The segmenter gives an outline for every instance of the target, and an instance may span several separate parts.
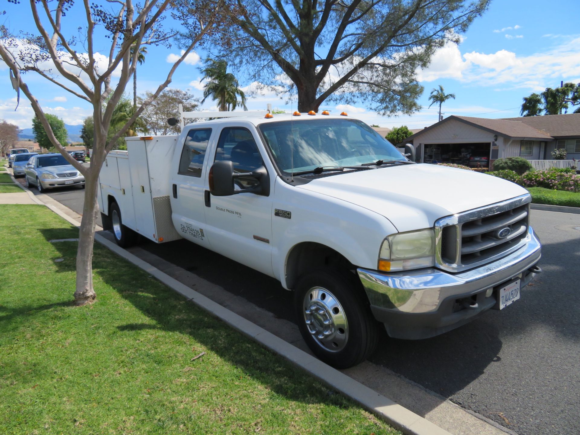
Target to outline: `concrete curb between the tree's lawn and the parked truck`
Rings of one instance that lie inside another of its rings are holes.
[[[53,212],[59,215],[61,218],[70,222],[74,226],[80,226],[80,223],[67,216],[65,213],[60,211],[54,206],[44,204],[39,198],[20,185],[23,190],[28,191],[34,202],[37,204],[45,205],[50,208]],[[175,280],[157,269],[157,267],[144,262],[142,259],[137,258],[137,256],[132,253],[125,251],[125,249],[119,247],[117,244],[107,240],[100,234],[95,234],[95,241],[102,244],[104,247],[110,249],[117,255],[128,260],[129,262],[135,264],[135,266],[140,267],[148,274],[154,276],[160,280],[163,284],[167,285],[169,288],[173,289],[177,293],[183,295],[187,300],[191,300],[197,306],[208,311],[213,316],[218,317],[223,320],[228,325],[237,329],[244,335],[252,338],[256,342],[260,343],[262,346],[270,349],[274,353],[286,358],[293,364],[298,365],[310,375],[314,376],[321,382],[332,387],[333,389],[339,391],[344,396],[351,398],[356,403],[360,404],[362,407],[372,412],[380,419],[389,423],[391,426],[400,430],[407,435],[451,435],[441,427],[434,425],[434,423],[429,422],[420,415],[409,411],[407,408],[398,405],[389,398],[382,396],[376,391],[370,389],[369,387],[362,385],[360,382],[350,378],[349,376],[342,374],[338,370],[330,367],[324,362],[318,360],[317,358],[311,356],[310,354],[302,351],[291,343],[278,338],[273,333],[266,331],[251,321],[235,314],[233,311],[226,309],[225,307],[219,305],[213,300],[206,298],[206,296],[190,289],[181,282]]]

